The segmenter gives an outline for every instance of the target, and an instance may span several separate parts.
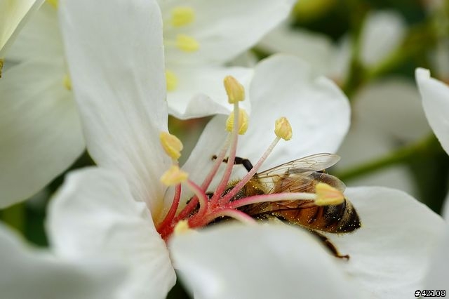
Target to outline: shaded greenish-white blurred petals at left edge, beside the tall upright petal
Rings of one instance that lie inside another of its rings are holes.
[[[21,63],[0,80],[1,208],[39,192],[85,148],[53,2],[23,28],[7,56]]]

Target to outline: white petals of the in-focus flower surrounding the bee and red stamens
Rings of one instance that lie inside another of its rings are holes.
[[[51,204],[48,230],[62,258],[126,263],[130,277],[119,297],[163,298],[175,273],[161,237],[170,239],[170,230],[161,231],[161,222],[175,201],[173,192],[166,192],[159,182],[171,164],[159,145],[159,133],[167,131],[160,16],[147,0],[118,6],[98,3],[93,9],[83,1],[63,2],[62,28],[88,150],[100,168],[69,175]],[[122,11],[136,22],[114,26],[123,22]],[[152,23],[142,21],[142,15]],[[142,41],[141,32],[152,38]],[[236,148],[239,156],[262,156],[272,139],[274,119],[288,117],[295,128],[292,141],[277,145],[264,168],[307,154],[334,152],[349,126],[349,105],[342,92],[328,79],[314,79],[295,58],[281,55],[261,62],[249,94],[253,112]],[[210,121],[183,166],[191,182],[200,184],[215,165],[210,157],[220,152],[226,139],[224,123],[221,116]],[[189,192],[182,192],[185,203]],[[363,293],[357,298],[410,298],[422,286],[427,255],[443,221],[395,190],[354,188],[347,190],[347,197],[360,213],[363,227],[330,238],[342,253],[351,255],[349,262],[326,255],[299,229],[261,225],[186,232],[172,238],[170,255],[194,293],[205,297],[235,297],[239,291],[248,298],[278,289],[276,294],[288,297],[295,292],[292,286],[299,286],[307,298],[313,298],[312,292],[321,298],[347,298],[353,291],[349,279],[354,292]],[[238,212],[232,215],[248,220]],[[417,215],[422,222],[416,221]],[[206,222],[201,217],[196,220]],[[235,255],[229,248],[235,248]],[[325,273],[316,270],[317,261],[326,267]],[[316,279],[322,284],[317,285]]]

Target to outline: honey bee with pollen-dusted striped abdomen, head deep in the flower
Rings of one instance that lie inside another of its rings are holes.
[[[336,154],[314,154],[257,173],[233,200],[281,192],[313,193],[318,182],[325,182],[343,192],[344,183],[323,172],[339,160],[340,157]],[[248,171],[252,168],[247,159],[238,158],[236,164],[243,164]],[[230,183],[225,192],[232,190],[237,182]],[[361,227],[356,209],[348,199],[344,199],[342,204],[330,206],[316,206],[313,200],[262,202],[242,206],[239,210],[257,220],[278,218],[283,222],[304,227],[319,237],[338,258],[349,258],[349,255],[340,255],[330,240],[319,232],[347,233]]]

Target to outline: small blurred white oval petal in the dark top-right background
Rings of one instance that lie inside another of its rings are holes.
[[[406,34],[406,24],[394,11],[376,11],[366,18],[361,33],[361,60],[375,65],[401,44]]]

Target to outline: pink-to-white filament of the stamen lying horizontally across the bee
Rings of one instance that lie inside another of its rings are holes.
[[[314,193],[307,192],[291,192],[291,193],[274,193],[274,194],[263,194],[254,195],[252,197],[244,197],[242,199],[237,199],[231,201],[227,208],[240,208],[241,206],[247,206],[248,204],[258,204],[261,202],[268,201],[285,201],[285,200],[315,200],[317,198]]]

